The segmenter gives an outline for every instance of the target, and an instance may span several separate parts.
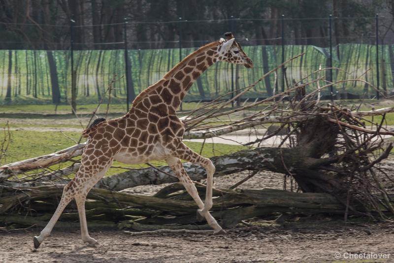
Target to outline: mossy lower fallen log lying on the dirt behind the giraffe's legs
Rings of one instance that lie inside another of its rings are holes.
[[[199,186],[198,188],[203,190]],[[45,225],[44,222],[49,220],[56,209],[56,203],[47,204],[46,211],[31,210],[30,213],[35,215],[33,217],[25,217],[25,212],[23,212],[23,215],[18,215],[16,211],[26,210],[26,207],[32,207],[33,202],[43,199],[53,198],[55,200],[62,195],[62,190],[62,186],[40,186],[19,190],[16,191],[17,193],[3,193],[0,197],[0,204],[2,205],[0,221],[3,223],[43,226]],[[200,191],[200,194],[203,195],[203,191]],[[218,195],[214,199],[212,215],[220,219],[221,224],[226,228],[231,228],[245,219],[266,216],[276,212],[342,214],[344,211],[344,206],[335,197],[324,193],[294,193],[273,189],[242,191],[223,189],[220,196]],[[154,230],[177,224],[195,225],[193,227],[195,230],[206,229],[205,223],[199,223],[196,219],[197,205],[194,201],[173,199],[171,195],[158,198],[93,188],[88,195],[88,199],[101,201],[101,203],[96,203],[95,209],[87,211],[88,222],[92,227],[114,227],[114,224],[118,224],[120,228]],[[9,205],[10,203],[12,205]],[[118,215],[108,221],[108,217],[102,218],[99,216],[115,210],[101,207],[100,204],[102,203],[123,208],[117,209]],[[146,208],[150,210],[143,210]],[[142,209],[140,216],[136,216],[138,209]],[[76,219],[77,213],[65,213],[60,218],[60,222],[65,224],[60,223],[60,226],[66,228],[78,227],[74,223]],[[91,224],[90,220],[95,222]],[[74,224],[68,224],[69,221]],[[196,225],[199,226],[196,227]],[[184,226],[173,227],[173,229],[180,228],[184,228]]]

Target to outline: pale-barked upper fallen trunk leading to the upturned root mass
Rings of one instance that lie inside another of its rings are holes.
[[[313,167],[318,164],[324,164],[324,160],[303,159],[303,153],[297,148],[276,148],[261,147],[253,150],[243,150],[229,155],[212,157],[213,164],[216,167],[215,177],[232,174],[244,170],[270,170],[273,172],[287,173],[286,167],[296,167],[303,161],[307,161],[305,168]],[[184,163],[185,170],[192,180],[206,178],[204,167]],[[126,171],[120,174],[103,177],[97,184],[96,188],[120,191],[140,185],[159,185],[164,183],[177,182],[175,176],[168,166],[158,168],[141,168]],[[67,179],[56,181],[57,184],[68,183]],[[3,182],[3,185],[10,187],[33,187],[39,185],[53,184],[51,182],[37,181],[29,183]]]

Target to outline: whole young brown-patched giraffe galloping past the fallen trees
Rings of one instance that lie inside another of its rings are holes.
[[[48,224],[38,236],[34,236],[35,248],[50,234],[72,199],[75,199],[78,208],[82,240],[90,245],[97,243],[88,233],[85,200],[88,192],[104,176],[114,160],[125,164],[164,160],[197,203],[197,217],[205,218],[214,233],[226,232],[209,213],[212,207],[215,166],[209,159],[193,152],[182,142],[184,126],[176,116],[176,110],[190,86],[215,62],[227,61],[243,64],[247,68],[253,66],[232,33],[225,33],[225,36],[226,40],[220,38],[219,41],[197,49],[167,72],[161,80],[141,92],[133,100],[126,115],[107,121],[97,119],[82,132],[88,139],[82,153],[81,166],[75,177],[64,187],[60,203]],[[205,168],[205,202],[198,196],[181,159]]]

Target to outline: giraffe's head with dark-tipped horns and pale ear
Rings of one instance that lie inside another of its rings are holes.
[[[235,41],[231,32],[225,33],[226,39],[220,38],[219,60],[234,64],[242,64],[250,68],[253,67],[252,60],[243,52],[242,47]]]

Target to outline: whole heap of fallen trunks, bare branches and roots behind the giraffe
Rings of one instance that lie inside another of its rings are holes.
[[[279,124],[272,133],[244,144],[247,150],[214,157],[212,161],[216,166],[215,176],[242,170],[282,173],[287,180],[295,181],[292,191],[216,189],[213,216],[227,228],[244,219],[275,212],[335,213],[344,214],[345,219],[353,214],[390,220],[394,215],[394,174],[379,164],[393,149],[394,131],[385,125],[385,118],[386,114],[394,114],[394,107],[361,111],[361,104],[346,108],[320,101],[320,92],[331,85],[345,81],[369,83],[357,78],[329,83],[319,76],[327,69],[319,69],[294,82],[283,93],[236,108],[228,107],[289,61],[254,84],[235,91],[232,99],[215,99],[182,118],[186,128],[184,138],[207,139]],[[307,93],[312,83],[317,83],[319,88]],[[320,83],[325,85],[320,87]],[[378,122],[369,116],[377,116]],[[278,134],[283,134],[279,145],[261,147],[261,143]],[[56,208],[61,186],[79,164],[75,162],[56,171],[43,167],[69,161],[81,155],[83,148],[82,143],[54,154],[1,166],[1,221],[44,226]],[[205,176],[203,168],[195,164],[186,163],[185,168],[193,180]],[[178,183],[163,188],[153,197],[118,192],[138,185],[176,181],[167,166],[131,169],[104,177],[88,196],[88,221],[96,227],[117,225],[134,230],[205,229],[206,225],[195,218],[197,206]],[[203,185],[196,185],[203,198]],[[77,213],[72,211],[75,207],[70,209],[58,226],[77,224]]]

